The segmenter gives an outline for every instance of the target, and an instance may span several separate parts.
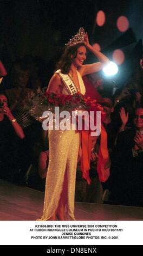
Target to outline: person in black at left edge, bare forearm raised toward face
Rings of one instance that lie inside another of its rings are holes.
[[[24,132],[8,107],[8,97],[0,93],[0,178],[11,179],[17,168],[18,144]],[[13,175],[13,173],[12,173]]]

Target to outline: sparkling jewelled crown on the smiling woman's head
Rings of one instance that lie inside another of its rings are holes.
[[[70,46],[74,46],[79,44],[80,42],[83,42],[86,38],[86,33],[85,33],[85,29],[84,28],[80,28],[79,32],[74,35],[72,37],[72,39],[70,39],[68,41],[68,43],[66,44],[66,48],[70,47]]]

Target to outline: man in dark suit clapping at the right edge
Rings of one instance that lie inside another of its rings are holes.
[[[112,158],[113,204],[143,206],[143,107],[135,109],[131,129],[125,130],[128,114],[120,111],[122,127]]]

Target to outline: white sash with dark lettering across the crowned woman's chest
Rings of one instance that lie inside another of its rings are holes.
[[[72,79],[70,78],[70,76],[68,74],[62,74],[60,69],[57,70],[55,73],[60,75],[60,77],[62,78],[62,81],[63,81],[64,85],[66,86],[69,94],[73,95],[73,94],[78,92],[74,82],[72,81]]]

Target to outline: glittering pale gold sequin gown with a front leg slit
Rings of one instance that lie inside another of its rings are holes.
[[[84,95],[85,85],[80,73],[80,92]],[[63,94],[69,94],[66,87]],[[42,221],[48,220],[55,213],[62,190],[66,197],[66,218],[75,220],[74,197],[77,157],[79,153],[80,133],[75,130],[51,131],[49,130],[49,166],[46,178],[46,190],[44,196],[44,209]]]

